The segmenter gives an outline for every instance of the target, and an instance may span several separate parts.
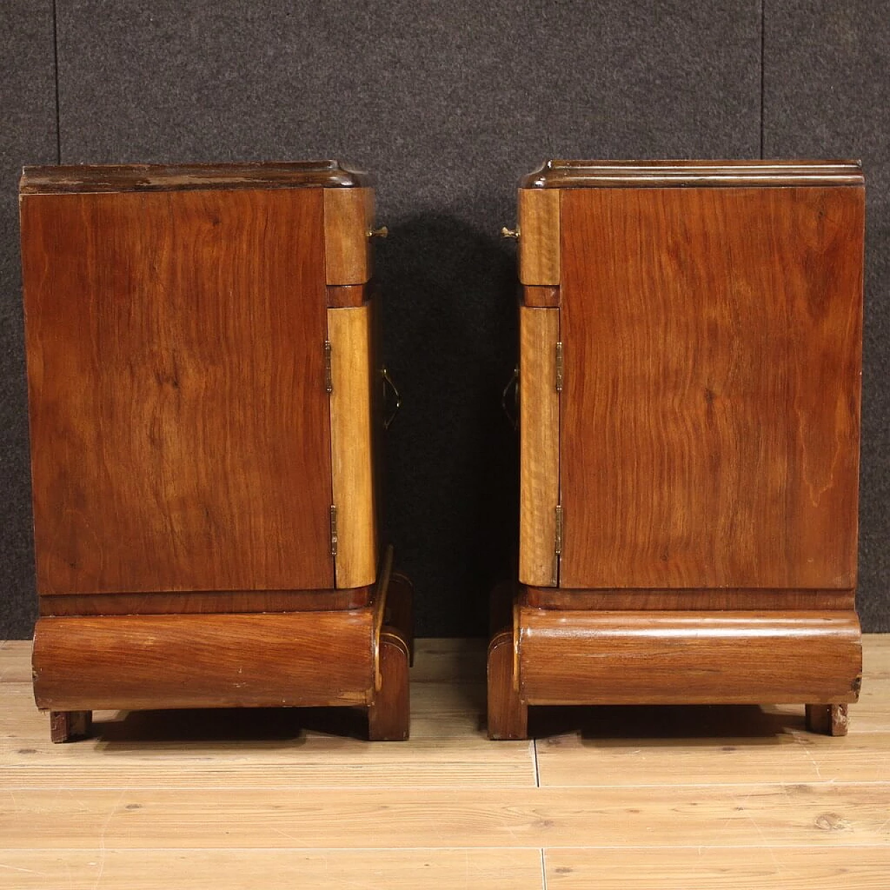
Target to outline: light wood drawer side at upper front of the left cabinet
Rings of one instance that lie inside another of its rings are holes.
[[[329,285],[364,284],[371,277],[368,231],[373,189],[325,189],[325,279]]]

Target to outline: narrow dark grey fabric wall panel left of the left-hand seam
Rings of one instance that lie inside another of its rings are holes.
[[[56,160],[53,4],[0,4],[0,639],[36,616],[28,409],[22,351],[18,181],[23,163]]]

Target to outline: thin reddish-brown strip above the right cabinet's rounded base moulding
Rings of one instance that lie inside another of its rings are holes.
[[[854,610],[854,590],[729,590],[708,587],[687,590],[563,590],[524,587],[521,602],[534,609],[581,610]]]

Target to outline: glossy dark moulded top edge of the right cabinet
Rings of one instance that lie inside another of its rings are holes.
[[[548,160],[521,189],[689,185],[862,185],[858,160]]]

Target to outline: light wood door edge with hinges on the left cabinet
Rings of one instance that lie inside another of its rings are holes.
[[[328,309],[336,587],[376,579],[370,303]]]

